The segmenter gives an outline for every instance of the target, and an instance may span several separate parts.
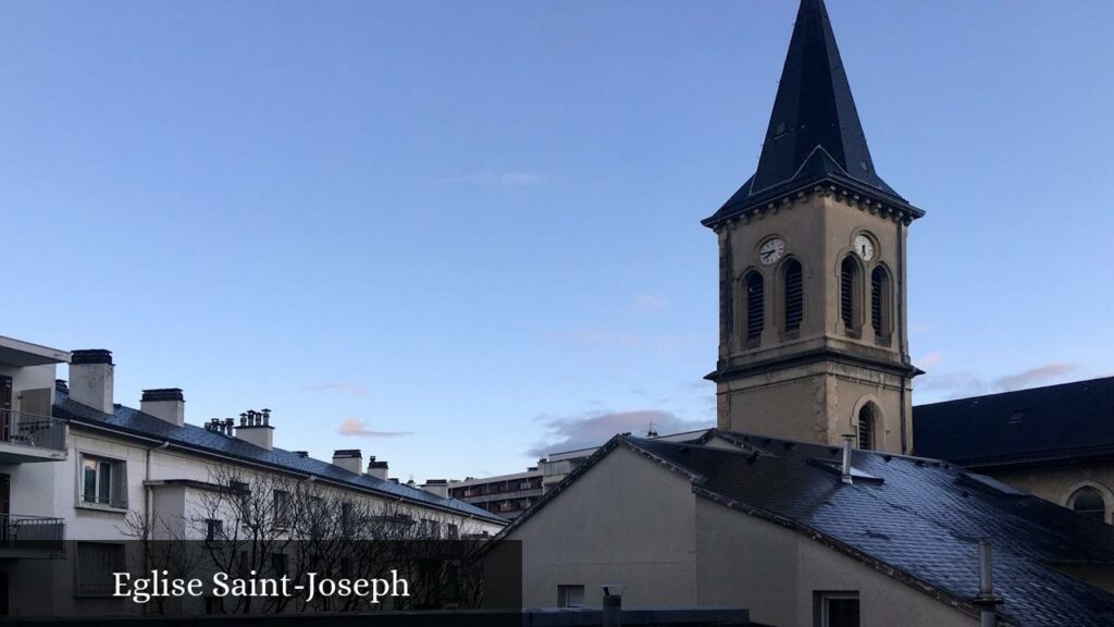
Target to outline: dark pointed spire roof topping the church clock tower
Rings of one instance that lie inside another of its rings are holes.
[[[912,209],[874,171],[823,0],[802,0],[758,171],[704,224],[825,180]]]

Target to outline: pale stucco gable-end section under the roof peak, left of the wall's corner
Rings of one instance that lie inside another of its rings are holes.
[[[696,601],[694,500],[687,478],[619,447],[515,530],[522,601],[557,606],[557,586],[624,583],[627,606]]]

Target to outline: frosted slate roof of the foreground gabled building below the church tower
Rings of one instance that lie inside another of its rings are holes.
[[[693,492],[795,529],[942,602],[973,609],[977,540],[994,547],[999,617],[1020,627],[1114,625],[1114,596],[1052,562],[1114,565],[1114,529],[952,464],[854,451],[844,484],[837,447],[711,430],[739,450],[616,436],[504,534],[524,524],[617,446],[692,476]]]

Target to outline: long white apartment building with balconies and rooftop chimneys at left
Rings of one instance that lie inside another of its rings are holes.
[[[68,382],[57,378],[61,364]],[[390,480],[385,462],[371,457],[365,467],[359,450],[322,461],[280,448],[281,421],[265,408],[197,425],[186,421],[178,388],[144,390],[138,408],[118,404],[114,374],[108,350],[67,353],[0,337],[0,615],[12,599],[26,614],[32,598],[41,601],[33,614],[115,611],[123,599],[110,598],[102,571],[82,580],[87,569],[75,578],[51,562],[117,562],[128,540],[233,533],[250,498],[290,533],[300,494],[335,501],[346,517],[412,530],[407,538],[490,537],[507,522]],[[43,589],[51,594],[38,594]]]

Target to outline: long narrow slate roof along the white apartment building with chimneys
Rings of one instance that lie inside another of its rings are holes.
[[[186,424],[176,426],[166,421],[144,414],[138,409],[116,405],[113,414],[105,414],[88,405],[69,398],[65,389],[56,389],[53,415],[70,423],[85,424],[99,428],[139,437],[149,437],[183,448],[189,448],[199,454],[235,457],[245,462],[257,463],[280,471],[296,474],[313,475],[332,482],[343,483],[356,490],[362,490],[392,499],[402,499],[416,504],[431,507],[447,512],[470,515],[490,522],[506,523],[507,520],[469,505],[456,499],[446,499],[430,494],[424,490],[383,481],[371,475],[349,472],[329,462],[302,457],[292,451],[272,448],[267,451],[243,440],[231,437],[204,427]]]

